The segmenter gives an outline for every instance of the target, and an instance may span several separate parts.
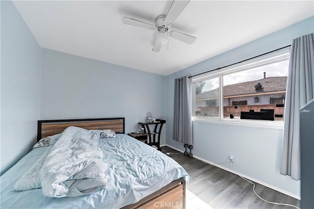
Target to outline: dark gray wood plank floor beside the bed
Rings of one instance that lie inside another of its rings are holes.
[[[161,147],[164,153],[178,151],[167,146]],[[170,156],[173,157],[173,156]],[[176,160],[190,176],[186,184],[187,209],[294,209],[266,203],[253,192],[253,185],[239,176],[183,154]],[[254,182],[255,183],[255,182]],[[288,195],[255,183],[255,191],[269,202],[285,203],[300,208],[300,201]]]

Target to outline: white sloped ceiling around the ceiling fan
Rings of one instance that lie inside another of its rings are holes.
[[[126,16],[155,25],[172,1],[14,1],[41,47],[169,75],[314,15],[314,1],[191,0],[171,26],[195,36],[169,38],[152,52],[157,30],[124,25]]]

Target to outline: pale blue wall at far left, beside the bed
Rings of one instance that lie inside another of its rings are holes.
[[[1,1],[1,174],[36,142],[41,48],[12,1]]]

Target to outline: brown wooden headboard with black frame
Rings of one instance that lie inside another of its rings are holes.
[[[61,133],[70,126],[76,126],[87,130],[111,129],[116,133],[125,133],[124,121],[125,118],[40,120],[37,125],[37,141],[44,137]]]

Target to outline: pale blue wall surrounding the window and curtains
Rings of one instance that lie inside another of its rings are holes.
[[[312,17],[167,76],[164,103],[168,122],[166,143],[183,150],[182,143],[172,140],[175,78],[206,72],[287,46],[291,44],[293,38],[313,31],[314,18]],[[239,173],[295,197],[300,196],[300,181],[279,174],[282,130],[202,122],[192,122],[192,126],[194,141],[192,153],[195,156],[218,163],[228,161],[228,156],[234,155],[235,169]],[[221,166],[230,169],[229,164],[221,164]]]

